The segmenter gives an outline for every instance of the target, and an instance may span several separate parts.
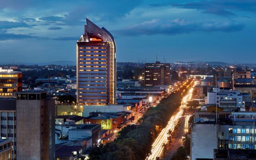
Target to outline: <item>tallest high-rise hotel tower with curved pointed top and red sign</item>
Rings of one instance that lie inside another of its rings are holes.
[[[104,27],[86,18],[76,45],[76,100],[80,105],[116,103],[116,44]]]

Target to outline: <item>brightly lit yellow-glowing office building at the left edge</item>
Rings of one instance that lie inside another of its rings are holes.
[[[22,90],[22,73],[0,68],[0,97],[16,97]]]

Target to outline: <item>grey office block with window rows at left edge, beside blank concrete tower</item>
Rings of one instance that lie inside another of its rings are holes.
[[[16,159],[16,99],[0,98],[0,136],[12,140],[11,159]]]

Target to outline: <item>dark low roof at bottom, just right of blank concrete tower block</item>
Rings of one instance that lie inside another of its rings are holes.
[[[55,157],[70,157],[72,155],[72,151],[79,151],[82,149],[82,146],[61,146],[55,145]]]

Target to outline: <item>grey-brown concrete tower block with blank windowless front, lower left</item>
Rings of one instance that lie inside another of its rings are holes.
[[[55,102],[45,91],[17,92],[18,160],[54,160]]]

